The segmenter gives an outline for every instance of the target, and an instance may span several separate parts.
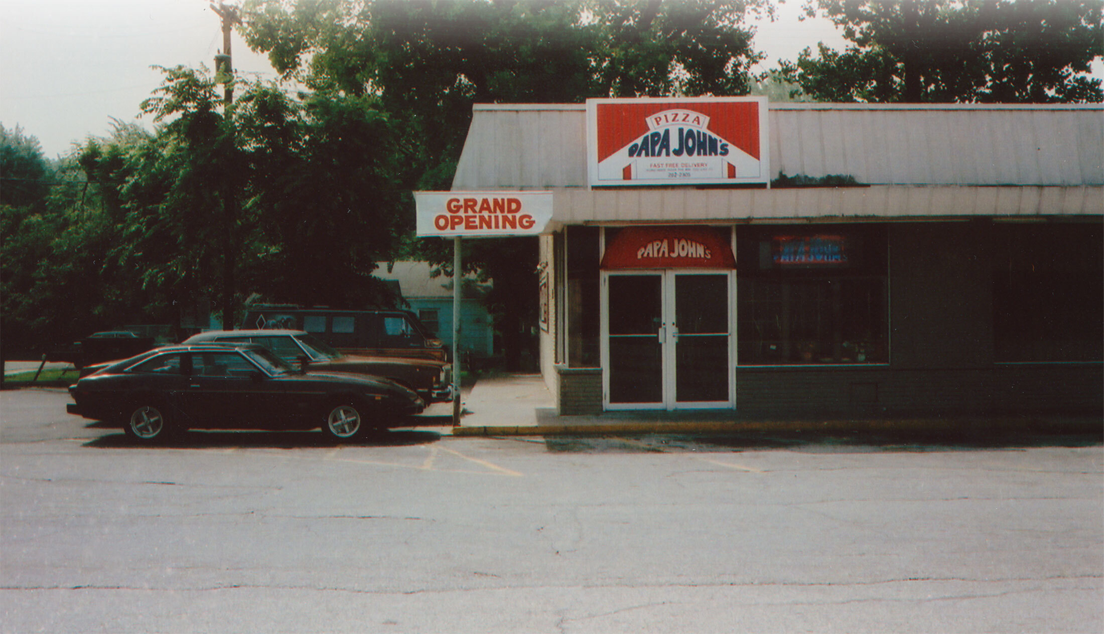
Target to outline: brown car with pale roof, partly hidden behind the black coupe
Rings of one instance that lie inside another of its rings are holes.
[[[318,337],[300,330],[216,330],[189,337],[183,343],[256,343],[291,364],[306,359],[311,372],[348,372],[391,379],[413,389],[426,402],[453,399],[453,366],[425,358],[344,355]]]

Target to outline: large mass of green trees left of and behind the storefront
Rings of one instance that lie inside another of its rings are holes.
[[[474,103],[746,94],[761,58],[743,22],[750,11],[771,7],[248,2],[247,41],[302,94],[237,79],[227,106],[206,69],[161,68],[162,86],[142,103],[156,132],[116,123],[56,174],[33,139],[3,131],[3,176],[30,174],[28,187],[0,190],[6,339],[63,343],[125,323],[179,323],[203,298],[221,297],[225,312],[245,292],[389,304],[374,262],[452,261],[449,244],[411,238],[410,191],[450,186]],[[34,184],[50,179],[59,184]],[[466,268],[496,282],[490,302],[517,354],[535,323],[535,240],[467,249]]]

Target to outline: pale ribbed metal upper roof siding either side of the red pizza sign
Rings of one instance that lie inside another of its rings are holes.
[[[1104,109],[775,105],[772,176],[887,185],[1104,184]],[[585,187],[578,106],[477,107],[454,189]]]

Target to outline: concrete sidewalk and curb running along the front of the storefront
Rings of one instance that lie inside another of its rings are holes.
[[[482,378],[463,394],[453,436],[575,436],[625,433],[810,433],[901,438],[1098,434],[1098,416],[960,416],[750,420],[735,410],[607,411],[560,416],[540,375]],[[434,407],[442,407],[439,404]],[[449,410],[450,412],[450,410]]]

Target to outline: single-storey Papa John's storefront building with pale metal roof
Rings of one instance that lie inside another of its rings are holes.
[[[552,193],[562,415],[1104,404],[1100,105],[479,105],[453,190]]]

